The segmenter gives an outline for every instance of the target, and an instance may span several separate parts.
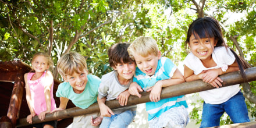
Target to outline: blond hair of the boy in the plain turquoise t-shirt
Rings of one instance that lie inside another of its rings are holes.
[[[74,72],[80,73],[87,70],[86,58],[77,52],[69,52],[64,54],[57,63],[57,70],[62,77],[72,75]]]

